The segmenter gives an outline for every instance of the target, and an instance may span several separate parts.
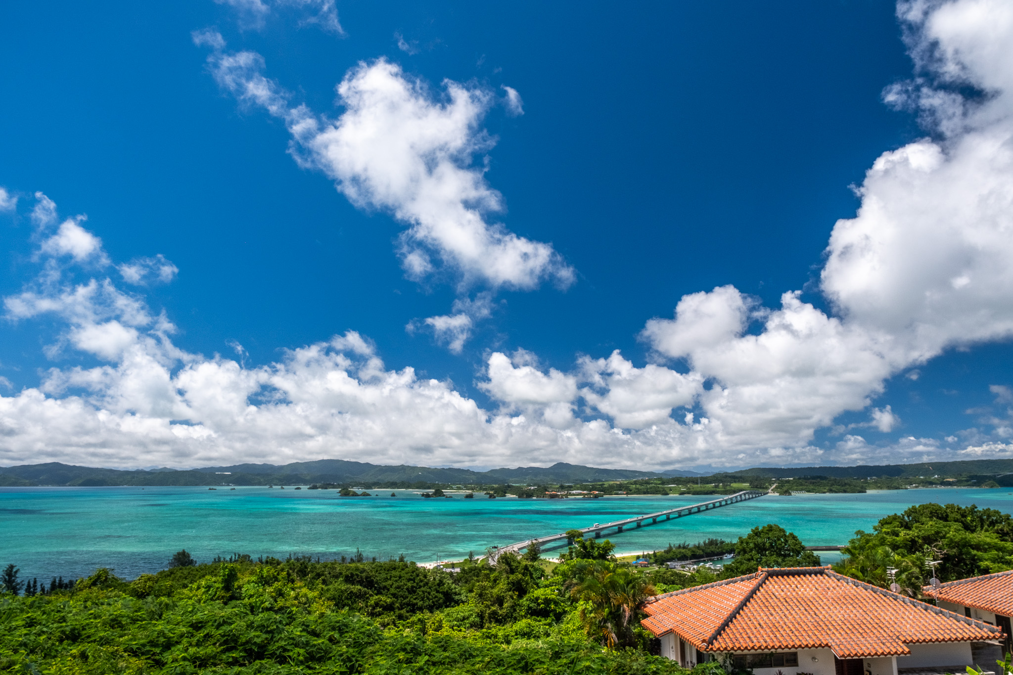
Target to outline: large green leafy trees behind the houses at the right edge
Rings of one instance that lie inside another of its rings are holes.
[[[943,582],[1013,569],[1013,519],[995,509],[920,504],[855,534],[836,569],[886,587],[886,570],[893,568],[897,583],[913,596],[928,584],[932,561],[939,561],[936,577]]]

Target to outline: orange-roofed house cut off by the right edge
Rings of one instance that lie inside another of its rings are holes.
[[[1013,570],[926,586],[922,591],[944,609],[998,625],[1006,634],[1003,654],[1013,651]]]

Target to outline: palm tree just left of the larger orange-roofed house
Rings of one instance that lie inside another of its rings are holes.
[[[581,561],[574,569],[570,594],[583,601],[578,615],[589,637],[602,636],[609,649],[633,644],[640,605],[654,587],[628,567],[610,561]]]

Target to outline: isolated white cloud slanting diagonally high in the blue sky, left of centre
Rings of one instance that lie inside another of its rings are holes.
[[[333,178],[353,203],[386,210],[407,226],[399,254],[409,277],[442,268],[457,274],[462,287],[572,283],[572,268],[551,245],[489,220],[502,212],[502,197],[484,168],[472,165],[492,144],[479,126],[492,98],[485,89],[448,80],[441,100],[380,59],[348,71],[337,87],[344,112],[330,120],[291,105],[287,92],[261,74],[263,59],[255,53],[216,52],[209,63],[240,102],[285,119],[291,151],[304,166]]]

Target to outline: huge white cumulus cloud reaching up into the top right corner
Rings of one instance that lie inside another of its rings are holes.
[[[1011,8],[903,2],[899,16],[925,76],[886,98],[923,108],[934,137],[883,153],[857,216],[834,227],[820,286],[833,314],[792,292],[764,310],[722,286],[686,296],[675,319],[642,333],[713,379],[700,405],[729,446],[802,445],[893,374],[1013,334]],[[965,100],[957,88],[968,86],[988,95]],[[762,329],[748,332],[754,320]],[[888,408],[872,415],[880,431],[897,425]]]

